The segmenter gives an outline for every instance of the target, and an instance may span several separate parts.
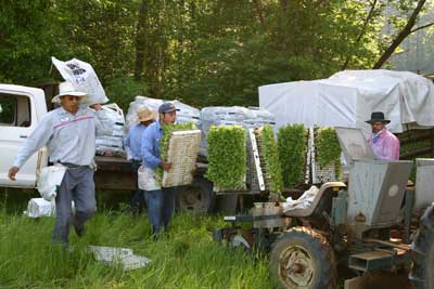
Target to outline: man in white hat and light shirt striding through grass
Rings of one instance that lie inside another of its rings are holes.
[[[55,197],[55,225],[53,242],[68,245],[69,226],[77,235],[85,233],[85,222],[97,211],[94,197],[95,135],[110,131],[111,122],[105,118],[100,104],[80,107],[87,94],[75,91],[69,82],[62,82],[60,94],[52,102],[61,107],[48,113],[18,150],[9,179],[15,180],[20,168],[43,146],[50,161],[66,167],[66,172]],[[73,214],[72,201],[76,212]]]

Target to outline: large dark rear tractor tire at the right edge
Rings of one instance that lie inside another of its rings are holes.
[[[434,207],[426,209],[411,248],[410,279],[418,289],[434,289]]]

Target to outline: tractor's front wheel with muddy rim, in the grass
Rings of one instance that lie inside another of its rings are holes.
[[[329,241],[306,227],[293,227],[276,240],[270,270],[278,288],[335,288],[336,268]]]

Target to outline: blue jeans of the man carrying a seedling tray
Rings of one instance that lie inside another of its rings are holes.
[[[167,229],[175,211],[175,187],[164,187],[155,191],[144,191],[148,207],[148,216],[152,224],[152,234],[158,234],[162,228]]]

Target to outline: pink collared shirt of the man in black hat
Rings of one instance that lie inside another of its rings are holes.
[[[368,142],[378,159],[399,159],[399,140],[387,129],[383,129],[378,135],[372,133]]]

